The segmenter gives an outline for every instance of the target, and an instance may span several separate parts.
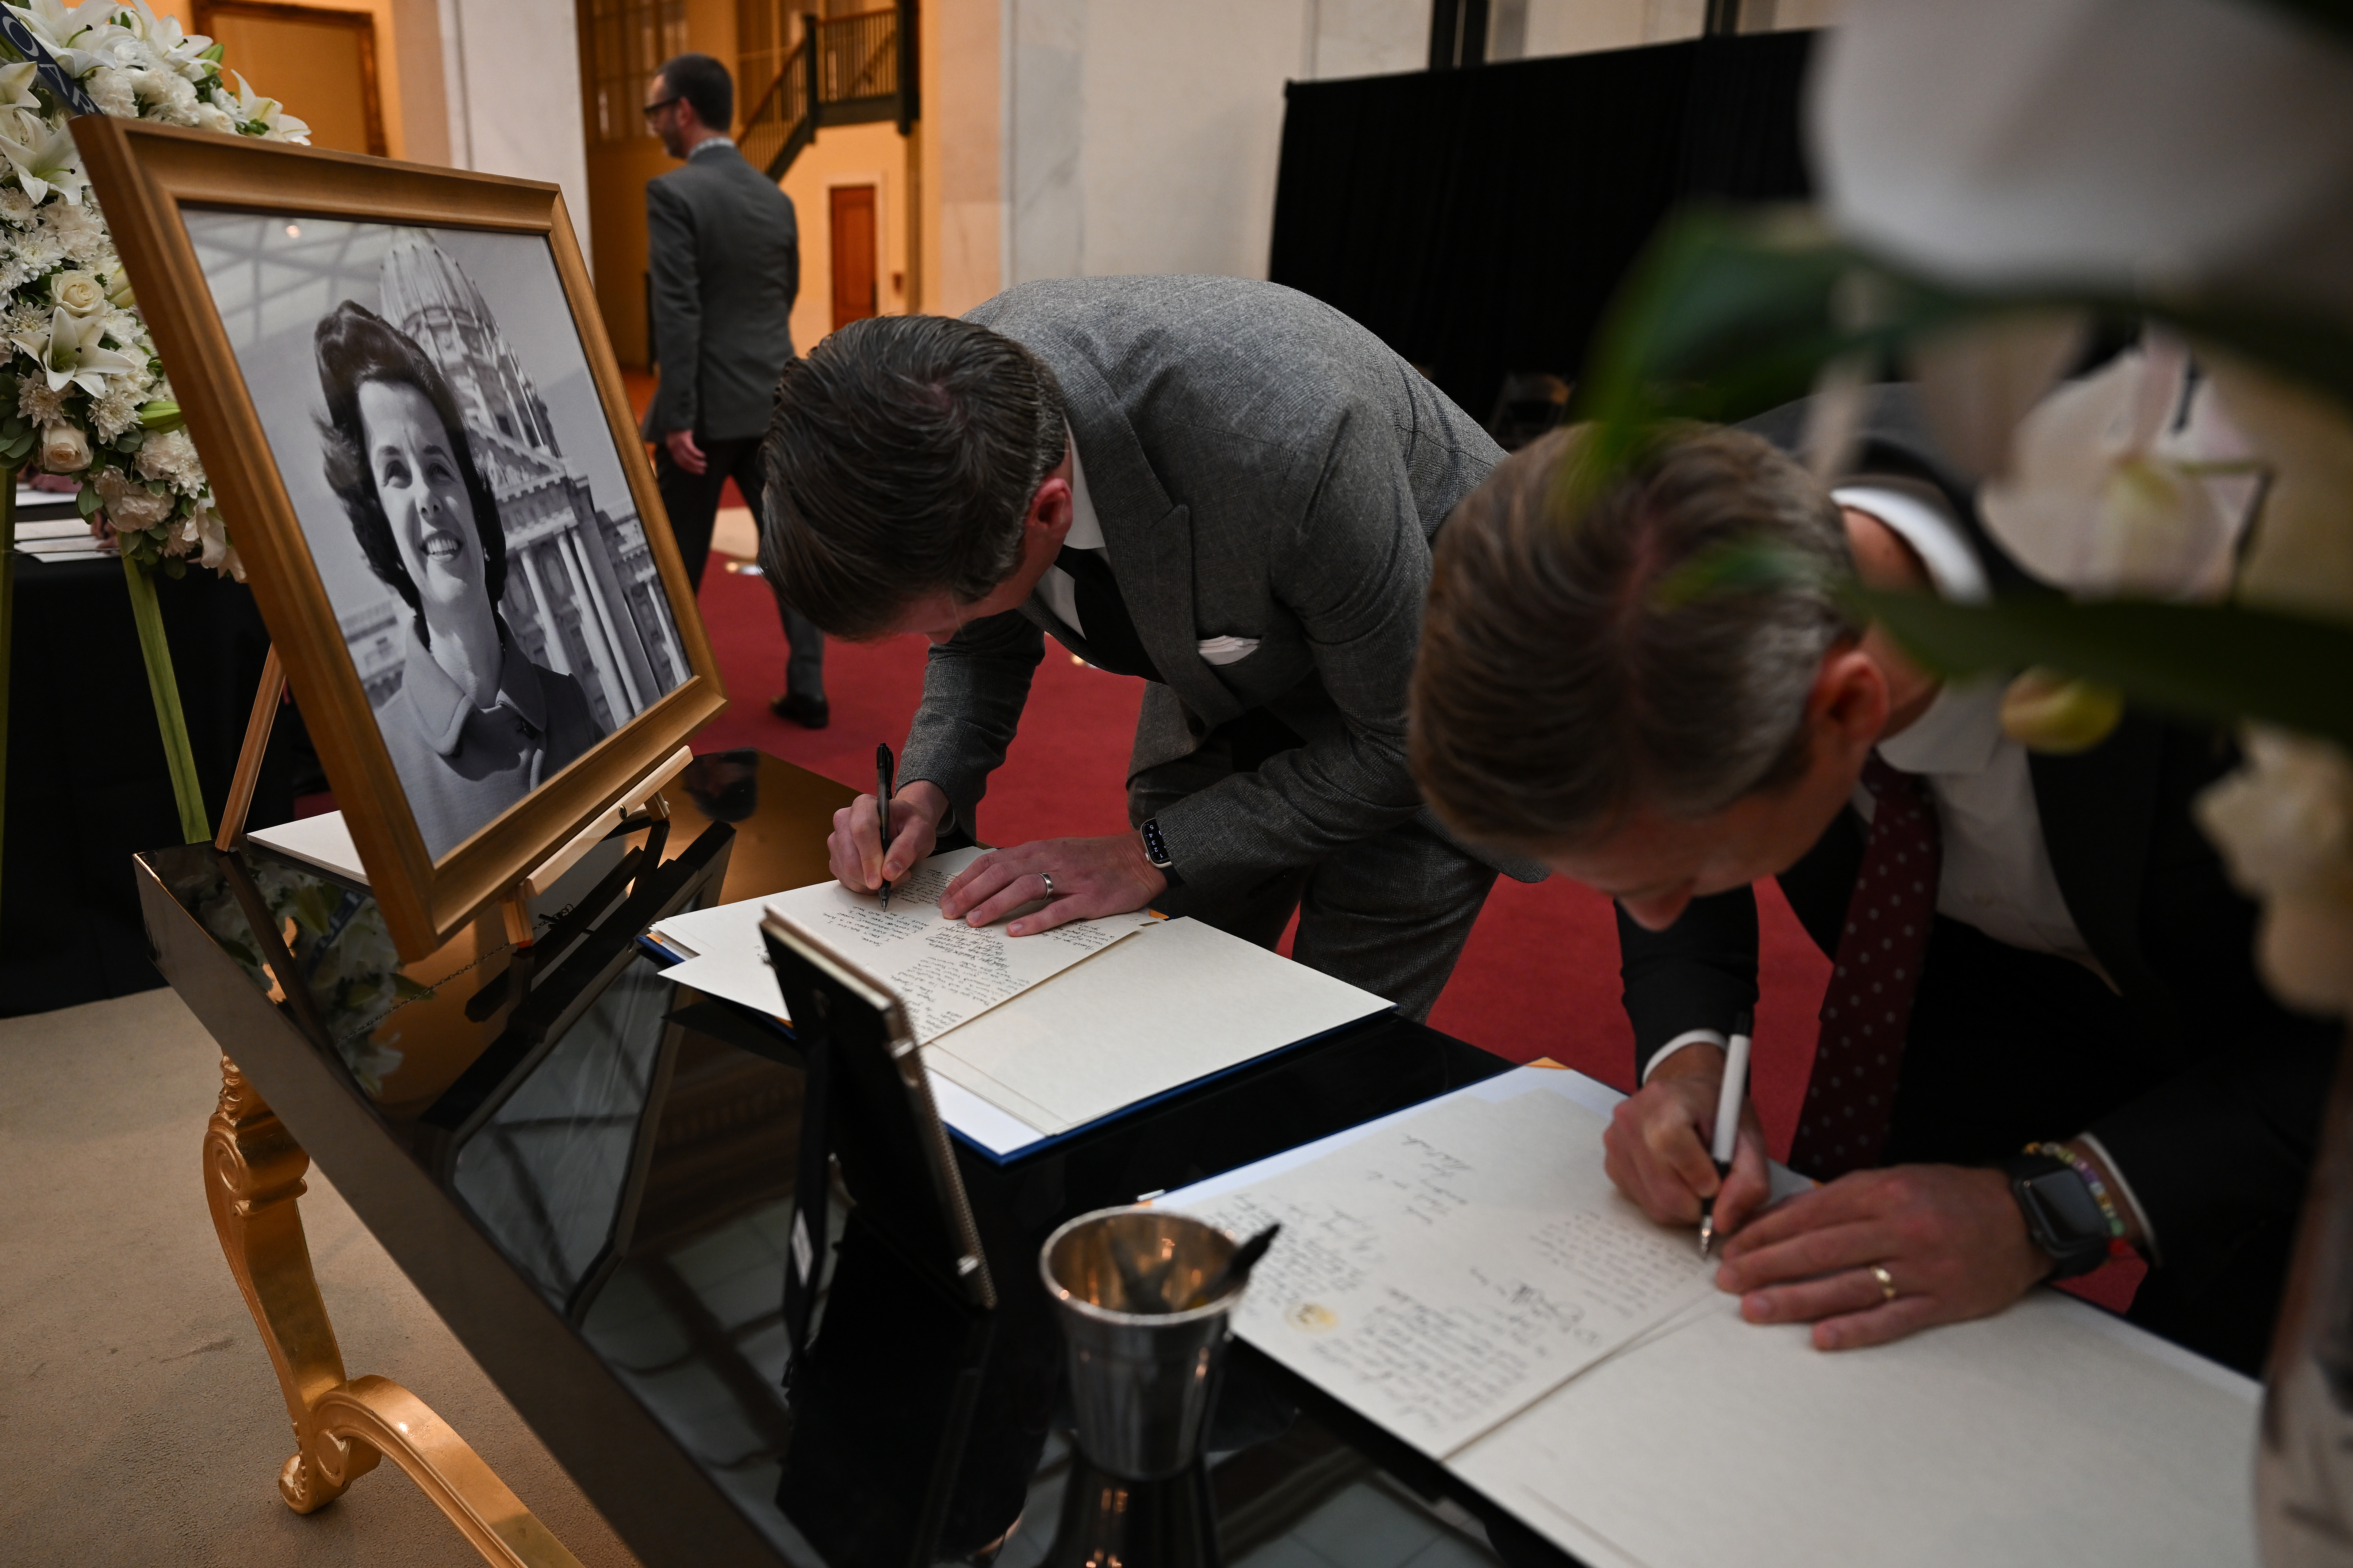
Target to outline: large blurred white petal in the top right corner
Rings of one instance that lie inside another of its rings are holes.
[[[1840,233],[1962,284],[2235,275],[2353,193],[2353,52],[2252,0],[1854,0],[1807,113]]]

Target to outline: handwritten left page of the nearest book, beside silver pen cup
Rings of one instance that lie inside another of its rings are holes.
[[[1235,1331],[1447,1458],[1713,1293],[1689,1229],[1602,1175],[1562,1093],[1449,1095],[1308,1164],[1172,1206],[1282,1237]]]

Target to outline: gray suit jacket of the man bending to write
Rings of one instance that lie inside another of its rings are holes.
[[[1417,816],[1435,827],[1405,771],[1405,686],[1431,536],[1504,461],[1487,433],[1339,310],[1266,282],[1031,282],[967,320],[1061,381],[1111,571],[1167,677],[1129,776],[1254,708],[1306,741],[1160,813],[1186,886],[1238,893]],[[969,820],[1047,630],[1085,654],[1035,595],[932,649],[901,778]],[[1212,665],[1205,637],[1259,646]]]

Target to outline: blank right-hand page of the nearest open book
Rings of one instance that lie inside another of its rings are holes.
[[[2257,1392],[2054,1291],[1835,1354],[1715,1298],[1449,1469],[1593,1568],[2252,1568]]]

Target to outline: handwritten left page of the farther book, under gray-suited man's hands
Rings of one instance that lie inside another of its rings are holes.
[[[767,893],[715,910],[673,914],[654,926],[654,940],[692,954],[668,971],[680,985],[755,1006],[784,1018],[784,997],[760,940],[762,914],[776,914],[816,936],[826,947],[887,985],[906,1006],[918,1044],[979,1018],[1089,959],[1151,917],[1115,914],[1075,919],[1038,936],[1005,936],[995,926],[944,919],[939,896],[984,851],[958,849],[932,856],[892,884],[889,907],[878,893],[852,893],[840,882],[819,882],[788,893]]]

